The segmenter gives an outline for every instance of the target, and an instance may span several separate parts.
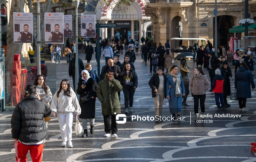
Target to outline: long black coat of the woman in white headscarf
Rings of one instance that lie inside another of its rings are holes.
[[[79,105],[81,107],[81,114],[79,115],[79,118],[81,119],[95,119],[95,111],[96,111],[96,91],[97,91],[97,83],[93,78],[89,78],[86,87],[83,89],[81,87],[83,79],[81,79],[78,83],[78,87],[76,90],[76,93],[80,95],[79,97]],[[88,94],[89,93],[89,94]],[[85,103],[81,103],[81,97],[88,95],[90,98],[89,101]],[[92,98],[92,96],[94,98]]]

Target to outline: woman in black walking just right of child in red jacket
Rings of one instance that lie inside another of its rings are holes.
[[[231,68],[228,66],[227,61],[223,61],[223,66],[221,67],[221,75],[224,77],[224,81],[226,84],[224,84],[223,87],[223,96],[224,101],[227,107],[230,107],[230,104],[227,103],[227,95],[231,94],[230,90],[230,80],[233,80],[232,71]]]

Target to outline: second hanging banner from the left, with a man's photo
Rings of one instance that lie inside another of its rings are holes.
[[[63,22],[64,14],[61,12],[44,13],[45,43],[64,44]]]

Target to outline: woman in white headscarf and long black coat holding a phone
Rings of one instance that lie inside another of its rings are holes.
[[[81,114],[79,118],[82,119],[82,126],[84,133],[82,137],[88,136],[87,134],[87,119],[90,121],[90,133],[94,132],[94,121],[95,121],[95,111],[96,111],[96,90],[97,83],[93,78],[90,77],[90,74],[87,70],[81,72],[82,78],[78,83],[76,93],[80,95],[79,105],[81,107]],[[89,101],[82,103],[81,98],[88,96]]]

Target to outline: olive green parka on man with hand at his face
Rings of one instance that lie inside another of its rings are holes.
[[[99,81],[97,87],[97,97],[102,103],[102,115],[114,115],[121,113],[121,106],[118,98],[118,91],[122,90],[122,85],[118,80],[113,78],[108,80],[105,75],[104,80]]]

